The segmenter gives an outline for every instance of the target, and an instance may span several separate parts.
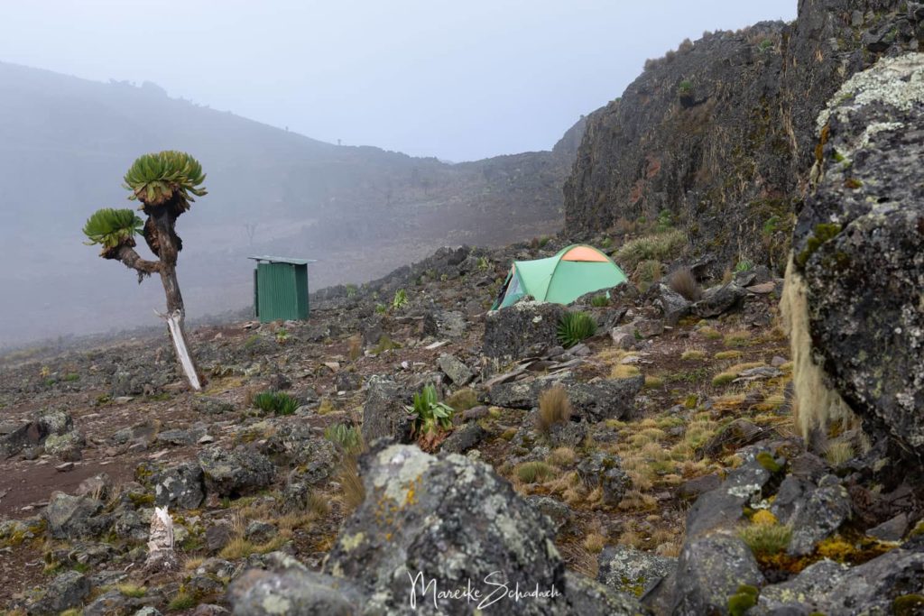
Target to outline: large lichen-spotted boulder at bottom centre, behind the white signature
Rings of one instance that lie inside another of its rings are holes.
[[[549,519],[491,466],[407,445],[360,462],[366,500],[346,519],[322,574],[296,564],[247,573],[240,614],[636,614],[634,598],[565,571]],[[505,595],[519,592],[518,600]],[[321,611],[319,611],[321,610]]]

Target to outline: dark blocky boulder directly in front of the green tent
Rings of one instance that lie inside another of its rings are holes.
[[[482,353],[514,359],[539,355],[558,344],[558,322],[564,315],[565,307],[560,304],[529,301],[489,312],[484,320]]]

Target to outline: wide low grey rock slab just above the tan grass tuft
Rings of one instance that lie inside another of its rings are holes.
[[[492,405],[529,409],[539,405],[539,396],[546,389],[561,384],[576,416],[596,423],[604,419],[625,419],[635,412],[635,396],[645,379],[597,379],[580,382],[568,377],[553,376],[536,380],[516,380],[494,385],[489,395]]]

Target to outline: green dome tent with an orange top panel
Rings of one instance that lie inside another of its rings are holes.
[[[548,259],[514,261],[491,309],[511,306],[525,295],[541,302],[570,304],[586,293],[626,280],[626,274],[600,250],[575,244]]]

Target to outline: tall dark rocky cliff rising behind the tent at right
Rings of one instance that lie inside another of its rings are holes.
[[[802,0],[790,24],[706,34],[650,61],[588,117],[566,234],[670,211],[695,253],[782,269],[817,115],[857,71],[917,49],[922,19],[918,3]]]

